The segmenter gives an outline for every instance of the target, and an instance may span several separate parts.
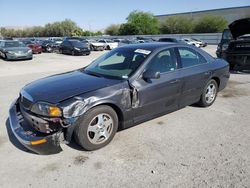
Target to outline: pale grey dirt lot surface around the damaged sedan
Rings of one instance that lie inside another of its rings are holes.
[[[215,46],[205,50],[214,55]],[[27,152],[9,132],[8,108],[25,84],[83,67],[98,57],[35,55],[0,60],[0,187],[250,187],[250,74],[231,74],[209,108],[189,106],[117,133],[85,152]]]

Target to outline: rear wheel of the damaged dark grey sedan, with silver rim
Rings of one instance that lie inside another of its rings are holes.
[[[217,93],[218,84],[214,79],[211,79],[205,86],[198,104],[202,107],[211,106],[217,97]]]

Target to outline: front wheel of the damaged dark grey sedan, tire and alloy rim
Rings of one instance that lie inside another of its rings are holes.
[[[118,117],[109,106],[90,109],[77,121],[75,141],[85,150],[92,151],[106,146],[118,129]]]

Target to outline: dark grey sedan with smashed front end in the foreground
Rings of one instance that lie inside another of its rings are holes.
[[[10,108],[10,126],[28,149],[49,154],[72,135],[86,150],[107,145],[118,128],[198,103],[226,87],[228,63],[190,45],[116,48],[89,66],[26,85]]]

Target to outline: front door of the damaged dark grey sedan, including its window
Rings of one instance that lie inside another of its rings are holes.
[[[160,72],[160,78],[144,80],[140,77],[132,83],[138,96],[138,105],[134,107],[135,122],[176,110],[178,107],[181,78],[174,49],[165,49],[156,54],[146,70]]]

